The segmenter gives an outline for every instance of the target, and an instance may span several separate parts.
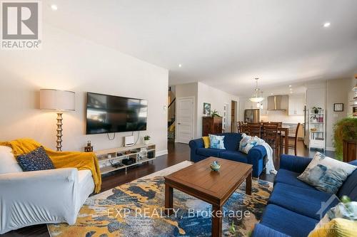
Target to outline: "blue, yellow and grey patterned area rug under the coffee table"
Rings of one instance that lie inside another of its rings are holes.
[[[249,236],[273,189],[253,179],[252,195],[243,183],[223,206],[223,236]],[[174,190],[174,214],[164,214],[164,177],[137,179],[91,196],[73,226],[49,224],[54,236],[211,236],[211,205]]]

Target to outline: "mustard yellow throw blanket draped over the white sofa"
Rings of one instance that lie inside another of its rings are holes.
[[[34,139],[22,138],[11,142],[0,142],[0,146],[12,148],[15,157],[21,154],[27,154],[34,149],[41,147],[39,142]],[[101,171],[99,169],[98,159],[93,152],[55,152],[52,149],[44,147],[49,155],[54,167],[57,168],[77,168],[79,170],[89,169],[94,180],[96,193],[101,191]]]

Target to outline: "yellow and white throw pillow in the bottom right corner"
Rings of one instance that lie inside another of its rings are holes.
[[[357,221],[334,218],[326,224],[316,226],[308,237],[349,237],[357,236]]]

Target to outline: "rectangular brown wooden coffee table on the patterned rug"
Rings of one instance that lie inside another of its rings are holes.
[[[218,172],[211,171],[213,161],[221,164]],[[227,159],[208,157],[201,162],[165,177],[165,212],[171,215],[174,208],[174,189],[212,204],[212,236],[221,236],[223,204],[246,180],[246,194],[251,195],[252,165]]]

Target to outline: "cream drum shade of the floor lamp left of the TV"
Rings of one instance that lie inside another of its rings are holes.
[[[75,110],[75,93],[68,90],[41,89],[40,110]]]

